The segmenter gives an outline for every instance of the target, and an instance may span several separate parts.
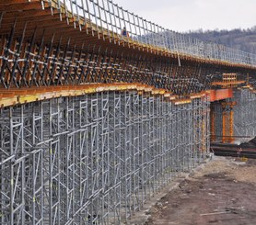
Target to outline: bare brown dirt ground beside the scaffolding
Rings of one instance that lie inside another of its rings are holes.
[[[152,224],[256,224],[256,160],[214,157],[149,211]]]

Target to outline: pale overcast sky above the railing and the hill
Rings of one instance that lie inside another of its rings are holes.
[[[124,9],[175,31],[251,28],[256,0],[112,0]]]

